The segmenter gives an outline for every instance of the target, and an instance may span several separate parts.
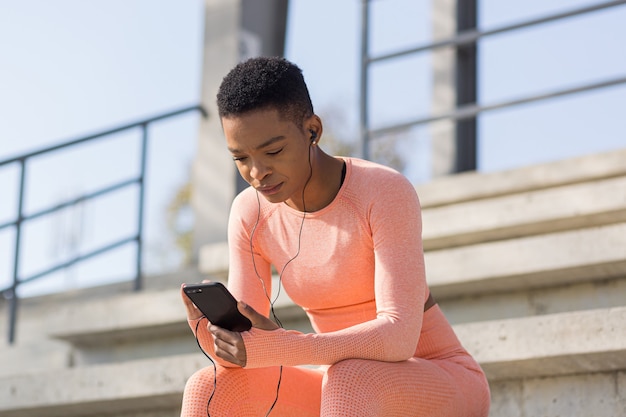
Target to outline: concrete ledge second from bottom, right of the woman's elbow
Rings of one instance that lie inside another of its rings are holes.
[[[440,299],[626,275],[626,223],[426,252]]]

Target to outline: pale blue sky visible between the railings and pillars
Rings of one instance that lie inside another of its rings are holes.
[[[479,22],[490,29],[595,3],[600,2],[483,0]],[[0,159],[196,104],[202,9],[201,0],[0,0]],[[346,140],[358,133],[359,10],[359,0],[290,3],[286,56],[303,69],[328,130]],[[625,75],[623,22],[626,6],[619,6],[481,41],[481,102]],[[373,53],[427,43],[432,40],[430,0],[375,1],[372,28]],[[429,54],[376,65],[372,124],[429,114],[430,77]],[[479,119],[479,169],[626,147],[625,108],[626,86],[620,86],[486,113]],[[151,271],[171,268],[179,260],[163,213],[189,176],[197,117],[151,130],[146,210]],[[103,185],[110,175],[132,175],[137,137],[129,132],[106,144],[33,162],[27,211]],[[414,182],[428,180],[428,129],[413,129],[402,146],[411,155],[406,175]],[[0,223],[15,215],[16,173],[15,167],[0,169]],[[133,201],[132,192],[127,194]],[[127,234],[134,224],[132,210],[121,210],[128,197],[120,193],[33,222],[25,229],[28,262],[23,262],[22,275]],[[12,239],[12,231],[0,231],[0,286],[8,282]],[[132,254],[130,248],[122,250],[48,281],[73,286],[110,279],[111,274],[122,279],[132,268]]]

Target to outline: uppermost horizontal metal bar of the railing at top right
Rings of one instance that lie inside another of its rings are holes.
[[[591,6],[581,7],[578,9],[572,9],[572,10],[562,12],[562,13],[555,13],[552,15],[540,17],[537,19],[527,20],[527,21],[516,23],[513,25],[501,26],[495,29],[490,29],[490,30],[485,30],[485,31],[479,31],[479,30],[464,31],[464,32],[457,34],[455,37],[452,37],[452,38],[443,39],[440,41],[417,46],[414,48],[403,49],[403,50],[396,51],[396,52],[382,54],[382,55],[378,55],[375,57],[369,57],[369,58],[366,58],[366,60],[367,62],[378,62],[378,61],[388,60],[391,58],[398,58],[398,57],[405,56],[405,55],[416,54],[419,52],[425,52],[425,51],[429,51],[429,50],[437,49],[437,48],[469,45],[469,44],[475,43],[478,39],[484,38],[487,36],[492,36],[492,35],[496,35],[496,34],[500,34],[504,32],[510,32],[510,31],[518,30],[518,29],[523,29],[529,26],[536,26],[536,25],[540,25],[543,23],[553,22],[556,20],[561,20],[561,19],[565,19],[569,17],[579,16],[585,13],[596,12],[599,10],[621,6],[624,4],[626,4],[626,0],[609,1],[606,3],[599,3],[599,4],[594,4]]]

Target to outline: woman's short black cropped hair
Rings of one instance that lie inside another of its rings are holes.
[[[251,58],[235,66],[222,80],[217,108],[220,119],[276,109],[299,127],[313,115],[302,70],[281,57]]]

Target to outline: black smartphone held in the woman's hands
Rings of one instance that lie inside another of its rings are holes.
[[[237,309],[237,300],[221,282],[183,287],[189,299],[216,326],[233,332],[250,330],[252,323]]]

